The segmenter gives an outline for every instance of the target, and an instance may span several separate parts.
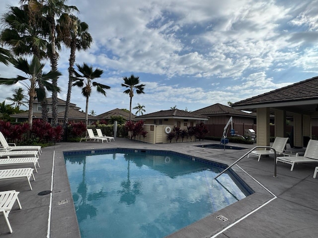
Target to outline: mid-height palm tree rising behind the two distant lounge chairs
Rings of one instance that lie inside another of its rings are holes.
[[[86,97],[86,108],[85,108],[85,121],[86,126],[88,125],[88,99],[90,97],[91,89],[92,87],[96,87],[97,92],[103,94],[106,97],[106,92],[104,89],[110,89],[109,86],[93,82],[95,78],[100,78],[101,74],[103,73],[103,70],[96,68],[93,71],[93,66],[88,66],[86,63],[83,63],[83,65],[76,64],[76,66],[79,69],[79,74],[76,70],[74,70],[74,74],[76,77],[73,77],[73,86],[78,86],[81,89],[81,94]]]

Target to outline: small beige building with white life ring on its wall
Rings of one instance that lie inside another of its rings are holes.
[[[136,120],[144,120],[144,130],[148,132],[145,142],[152,144],[168,143],[169,140],[166,135],[175,126],[180,129],[187,129],[187,126],[195,126],[197,123],[208,119],[206,116],[178,109],[159,111],[136,117]]]

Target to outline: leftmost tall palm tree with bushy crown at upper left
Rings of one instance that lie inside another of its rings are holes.
[[[31,21],[32,20],[32,21]],[[39,60],[47,58],[46,49],[48,36],[41,26],[45,25],[42,15],[31,15],[28,5],[21,7],[11,6],[9,11],[3,15],[2,24],[4,29],[1,32],[1,41],[10,47],[16,56],[34,55]],[[31,24],[32,22],[32,24]],[[41,90],[44,86],[39,83]],[[47,100],[41,101],[42,119],[48,120]]]

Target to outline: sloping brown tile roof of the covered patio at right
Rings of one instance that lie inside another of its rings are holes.
[[[252,98],[236,102],[232,107],[318,99],[318,77],[306,79]]]

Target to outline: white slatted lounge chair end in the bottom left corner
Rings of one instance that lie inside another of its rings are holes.
[[[0,212],[3,214],[6,225],[8,226],[10,233],[12,233],[12,228],[8,220],[9,213],[17,201],[19,208],[22,209],[20,201],[18,199],[19,192],[15,190],[0,192]]]

